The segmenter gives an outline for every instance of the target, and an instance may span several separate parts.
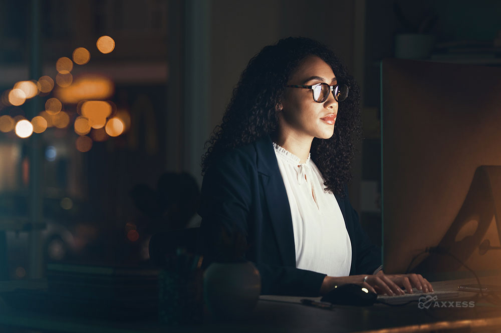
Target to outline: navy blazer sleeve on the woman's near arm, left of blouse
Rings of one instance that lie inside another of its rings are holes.
[[[235,254],[241,254],[240,257],[245,259],[249,216],[252,216],[252,172],[250,163],[245,165],[234,158],[217,161],[205,173],[198,209],[202,217],[202,268]],[[238,239],[238,244],[228,246],[228,238]],[[250,261],[260,272],[261,294],[316,297],[320,295],[320,287],[327,276],[296,267]]]

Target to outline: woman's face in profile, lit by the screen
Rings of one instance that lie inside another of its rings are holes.
[[[336,75],[330,65],[316,55],[305,58],[296,72],[290,77],[287,84],[313,85],[325,82],[329,85],[337,84]],[[330,124],[323,117],[338,113],[338,102],[334,95],[322,103],[313,99],[313,90],[305,88],[286,87],[282,104],[279,104],[280,129],[287,135],[298,137],[330,138],[334,133],[334,124]]]

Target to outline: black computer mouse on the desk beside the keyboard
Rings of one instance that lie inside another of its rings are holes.
[[[377,293],[355,283],[344,283],[334,287],[320,300],[343,305],[372,305],[377,300]]]

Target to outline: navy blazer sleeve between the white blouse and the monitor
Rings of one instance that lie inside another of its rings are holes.
[[[348,198],[348,186],[345,187],[346,197]],[[348,202],[348,211],[351,212],[353,221],[354,234],[356,235],[357,257],[355,261],[355,272],[357,274],[375,274],[381,266],[381,249],[374,245],[367,233],[364,231],[359,222],[357,211],[353,208],[350,201]]]

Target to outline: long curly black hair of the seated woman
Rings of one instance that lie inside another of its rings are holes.
[[[311,159],[324,177],[330,193],[344,197],[344,186],[351,181],[355,156],[354,139],[362,138],[360,88],[335,53],[321,42],[306,37],[288,37],[265,46],[250,59],[233,89],[222,122],[214,127],[202,155],[202,175],[214,160],[238,146],[254,142],[278,130],[276,106],[282,102],[285,85],[301,61],[317,55],[332,67],[338,84],[350,87],[348,97],[339,102],[334,134],[328,139],[315,137]]]

